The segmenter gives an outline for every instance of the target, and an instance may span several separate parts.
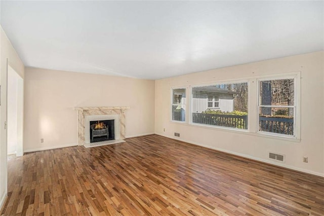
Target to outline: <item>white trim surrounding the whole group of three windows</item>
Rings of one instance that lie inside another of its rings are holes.
[[[296,116],[296,137],[286,137],[286,136],[277,136],[276,134],[267,134],[266,132],[258,133],[259,128],[259,117],[258,117],[258,98],[259,98],[259,80],[271,80],[271,79],[285,79],[285,78],[291,78],[296,76],[296,83],[295,83],[295,100],[296,100],[296,109],[295,109],[295,116]],[[208,86],[208,85],[219,85],[219,84],[230,84],[230,83],[248,83],[248,110],[251,112],[253,110],[252,114],[255,115],[248,115],[248,129],[236,129],[236,128],[229,128],[229,127],[218,127],[218,126],[208,126],[203,124],[195,124],[192,123],[192,88],[194,87],[200,87],[200,86]],[[205,128],[209,130],[219,130],[219,131],[230,131],[234,133],[240,133],[240,134],[247,134],[251,136],[258,136],[258,137],[264,137],[264,138],[271,138],[271,139],[278,139],[278,140],[285,140],[290,142],[300,142],[301,141],[301,71],[290,71],[288,73],[278,73],[278,74],[270,74],[270,75],[264,75],[264,76],[253,76],[253,77],[245,77],[243,79],[227,79],[227,80],[219,80],[217,82],[201,82],[198,85],[188,85],[188,86],[172,86],[172,89],[177,88],[186,88],[186,119],[185,122],[181,121],[171,121],[174,124],[185,124],[189,127],[197,127],[197,128]],[[252,89],[255,89],[256,98],[251,94]],[[172,97],[172,94],[171,94]],[[172,100],[171,100],[172,101]],[[172,110],[170,119],[172,119]]]

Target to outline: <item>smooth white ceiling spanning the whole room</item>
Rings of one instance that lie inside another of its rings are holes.
[[[160,79],[323,50],[323,2],[2,1],[26,66]]]

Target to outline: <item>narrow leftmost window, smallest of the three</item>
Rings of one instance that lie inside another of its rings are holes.
[[[186,89],[172,89],[172,120],[185,121]]]

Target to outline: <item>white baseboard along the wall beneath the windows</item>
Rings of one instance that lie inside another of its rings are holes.
[[[271,164],[271,165],[274,165],[274,166],[280,166],[280,167],[284,167],[284,168],[287,168],[287,169],[292,169],[292,170],[296,170],[296,171],[299,171],[299,172],[304,172],[304,173],[324,177],[324,173],[314,172],[314,171],[311,171],[311,170],[302,169],[302,168],[298,168],[298,167],[295,167],[295,166],[290,166],[290,165],[287,165],[287,164],[276,163],[276,162],[272,162],[272,161],[265,160],[265,159],[262,159],[262,158],[257,158],[257,157],[253,157],[253,156],[250,156],[250,155],[245,155],[245,154],[240,154],[240,153],[237,153],[237,152],[228,151],[228,150],[225,150],[225,149],[215,148],[215,147],[211,147],[211,146],[205,146],[205,145],[201,145],[201,143],[189,141],[189,140],[182,139],[182,138],[176,138],[176,137],[168,136],[168,135],[165,135],[165,134],[162,134],[162,133],[155,133],[155,134],[160,135],[160,136],[165,136],[165,137],[168,137],[168,138],[171,138],[171,139],[176,139],[176,140],[183,141],[183,142],[188,142],[188,143],[193,144],[195,146],[201,146],[201,147],[205,147],[205,148],[208,148],[208,149],[214,149],[216,151],[228,153],[228,154],[231,154],[231,155],[236,155],[236,156],[239,156],[239,157],[248,158],[248,159],[255,160],[255,161],[260,161],[262,163],[267,163],[267,164]]]

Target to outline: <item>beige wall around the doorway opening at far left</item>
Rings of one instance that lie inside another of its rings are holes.
[[[20,60],[15,49],[11,45],[6,33],[0,26],[0,207],[7,196],[7,59],[8,64],[21,76],[24,77],[24,64]]]

